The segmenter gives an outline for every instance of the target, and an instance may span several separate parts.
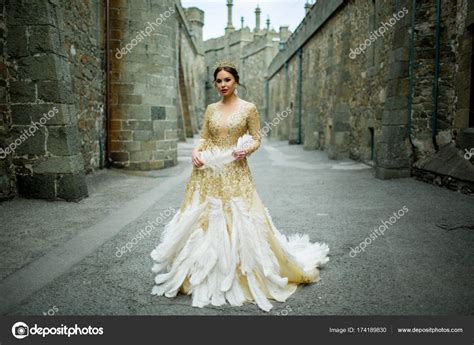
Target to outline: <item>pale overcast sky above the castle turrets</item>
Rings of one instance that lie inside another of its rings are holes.
[[[267,17],[270,17],[270,28],[279,31],[280,26],[288,25],[291,32],[295,31],[305,15],[304,4],[313,4],[315,0],[234,0],[232,6],[232,24],[240,29],[240,17],[244,17],[244,26],[255,28],[255,8],[257,4],[262,10],[260,28],[266,27]],[[198,7],[204,11],[203,39],[224,35],[227,25],[226,0],[181,0],[183,7]]]

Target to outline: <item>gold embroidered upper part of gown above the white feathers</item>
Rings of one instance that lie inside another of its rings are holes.
[[[239,137],[247,132],[254,139],[254,143],[245,148],[247,156],[260,147],[258,110],[253,103],[242,100],[240,102],[237,110],[229,114],[222,112],[217,103],[207,106],[198,150],[232,147],[237,144]],[[243,197],[251,206],[254,189],[247,158],[226,164],[221,174],[193,166],[181,209],[184,210],[190,204],[195,192],[199,192],[200,202],[203,202],[206,196],[221,199],[225,209],[229,208],[228,202],[234,196]]]

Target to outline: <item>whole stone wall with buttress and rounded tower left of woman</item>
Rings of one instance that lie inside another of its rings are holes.
[[[105,13],[104,0],[0,1],[0,145],[15,146],[0,160],[0,199],[79,200],[85,173],[107,163],[175,165],[183,90],[187,136],[197,133],[203,12],[175,0],[110,2],[109,133]]]

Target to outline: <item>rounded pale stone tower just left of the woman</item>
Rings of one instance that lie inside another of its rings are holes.
[[[111,1],[115,167],[146,170],[177,162],[176,16],[174,1]]]

